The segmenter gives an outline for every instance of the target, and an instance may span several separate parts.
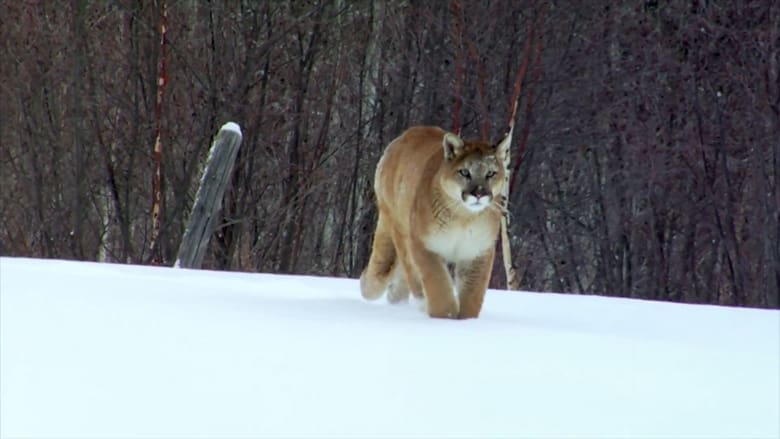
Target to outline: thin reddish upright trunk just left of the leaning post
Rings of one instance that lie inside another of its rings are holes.
[[[162,210],[162,118],[163,118],[163,95],[165,86],[168,84],[168,74],[166,72],[166,33],[168,31],[168,4],[162,0],[160,5],[160,58],[157,65],[157,103],[155,109],[155,141],[154,141],[154,171],[152,174],[152,233],[149,243],[152,263],[162,263],[161,252],[158,249],[158,238],[160,236],[160,213]]]

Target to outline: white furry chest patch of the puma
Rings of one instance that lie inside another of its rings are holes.
[[[434,231],[425,239],[425,246],[448,262],[469,261],[495,245],[497,234],[490,221],[475,221]]]

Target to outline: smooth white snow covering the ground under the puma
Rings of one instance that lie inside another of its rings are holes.
[[[2,437],[777,438],[780,311],[0,258]]]

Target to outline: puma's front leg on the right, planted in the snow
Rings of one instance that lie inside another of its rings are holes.
[[[455,285],[460,299],[458,318],[471,319],[479,317],[485,291],[490,282],[490,271],[493,268],[495,249],[471,261],[455,264]]]

